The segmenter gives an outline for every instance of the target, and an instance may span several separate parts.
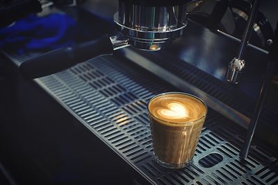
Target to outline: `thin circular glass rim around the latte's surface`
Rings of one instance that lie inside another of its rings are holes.
[[[197,100],[199,100],[205,107],[205,112],[204,112],[204,115],[200,116],[199,118],[195,119],[194,121],[186,121],[185,123],[178,123],[178,122],[175,122],[175,121],[165,121],[161,118],[158,118],[156,116],[154,116],[154,114],[152,114],[152,112],[149,111],[149,103],[151,103],[152,100],[154,100],[154,98],[157,98],[158,96],[163,96],[163,95],[166,95],[166,94],[182,94],[182,95],[186,95],[186,96],[191,96],[193,98],[196,98]],[[196,121],[199,121],[201,120],[202,118],[204,118],[208,112],[208,107],[206,106],[206,103],[204,103],[204,101],[201,99],[201,98],[198,98],[197,96],[193,95],[193,94],[188,94],[188,93],[184,93],[184,92],[178,92],[178,91],[171,91],[171,92],[164,92],[164,93],[161,93],[161,94],[156,94],[156,96],[152,97],[149,102],[147,103],[147,112],[149,113],[149,115],[151,115],[152,117],[156,118],[158,121],[163,121],[165,123],[174,123],[174,124],[183,124],[183,125],[186,125],[188,123],[195,123]]]

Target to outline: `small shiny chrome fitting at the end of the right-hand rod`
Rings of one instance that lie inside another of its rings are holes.
[[[226,73],[226,80],[228,82],[238,84],[238,82],[240,82],[240,79],[243,78],[244,68],[245,61],[238,58],[234,58],[229,63],[229,67]]]

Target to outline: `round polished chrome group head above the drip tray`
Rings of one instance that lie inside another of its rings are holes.
[[[119,1],[114,15],[117,30],[138,49],[158,51],[183,34],[186,6],[141,6]]]

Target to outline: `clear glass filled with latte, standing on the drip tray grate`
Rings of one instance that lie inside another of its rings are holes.
[[[194,156],[206,118],[205,103],[191,94],[168,92],[147,105],[156,161],[167,168],[183,168]]]

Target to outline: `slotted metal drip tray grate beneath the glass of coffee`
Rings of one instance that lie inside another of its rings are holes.
[[[278,184],[277,154],[252,146],[241,161],[242,131],[212,109],[192,164],[180,170],[156,164],[147,101],[177,89],[134,64],[99,57],[35,81],[153,184]]]

